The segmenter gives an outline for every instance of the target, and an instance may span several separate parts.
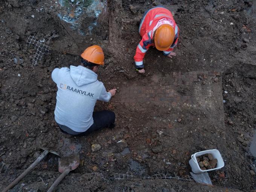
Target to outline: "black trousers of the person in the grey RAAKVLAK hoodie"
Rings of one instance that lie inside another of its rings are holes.
[[[101,128],[105,128],[105,127],[113,128],[115,119],[116,119],[116,115],[112,111],[105,110],[105,111],[93,112],[93,124],[85,132],[76,132],[65,125],[60,125],[59,123],[57,124],[62,133],[70,134],[74,136],[86,136],[94,131],[100,130]]]

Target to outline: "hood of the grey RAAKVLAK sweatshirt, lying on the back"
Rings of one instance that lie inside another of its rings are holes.
[[[98,81],[98,75],[83,66],[70,66],[70,76],[77,86],[87,85]]]

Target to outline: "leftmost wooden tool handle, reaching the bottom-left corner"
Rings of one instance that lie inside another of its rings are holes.
[[[2,192],[7,192],[9,189],[12,189],[12,187],[14,187],[23,177],[25,177],[27,175],[27,173],[29,171],[31,171],[31,169],[33,169],[35,166],[37,166],[37,164],[39,162],[41,162],[41,160],[48,154],[49,151],[44,151],[38,158],[37,160],[34,161],[34,163],[32,163],[22,174],[20,174],[19,177],[17,177],[17,179],[15,179],[14,181],[12,181],[11,184],[9,184],[7,187],[5,187],[5,189],[2,190]]]

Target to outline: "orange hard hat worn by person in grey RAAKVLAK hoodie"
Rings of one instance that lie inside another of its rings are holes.
[[[91,63],[104,65],[104,53],[98,45],[87,47],[87,49],[85,49],[81,54],[81,57]]]

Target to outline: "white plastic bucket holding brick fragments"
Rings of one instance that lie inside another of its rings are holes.
[[[198,165],[198,163],[197,163],[197,157],[199,157],[201,155],[204,155],[204,154],[207,154],[207,153],[212,154],[213,158],[216,158],[218,160],[218,162],[217,162],[216,168],[202,170],[200,168],[200,166]],[[217,149],[211,149],[211,150],[207,150],[207,151],[200,151],[200,152],[197,152],[197,153],[191,155],[191,159],[189,160],[189,165],[192,168],[192,172],[202,173],[202,172],[206,172],[206,171],[213,171],[213,170],[216,170],[216,169],[221,169],[222,167],[224,167],[224,161],[221,157],[220,152]]]

